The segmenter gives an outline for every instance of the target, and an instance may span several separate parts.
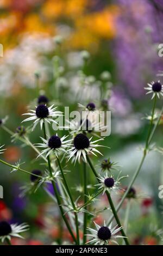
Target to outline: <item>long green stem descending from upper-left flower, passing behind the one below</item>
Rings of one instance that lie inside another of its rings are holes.
[[[45,139],[47,139],[47,138],[46,138],[45,123],[43,123],[43,134],[44,134]],[[52,167],[51,167],[51,160],[50,160],[50,157],[49,157],[49,156],[47,157],[47,160],[48,160],[49,173],[50,173],[51,177],[53,178],[53,172],[52,172]],[[54,193],[55,193],[55,197],[57,198],[57,202],[58,202],[58,206],[59,206],[59,209],[60,209],[62,218],[63,218],[63,220],[64,220],[64,222],[65,222],[65,224],[66,224],[66,227],[67,227],[68,231],[70,232],[70,234],[71,234],[71,236],[72,236],[72,239],[73,239],[74,242],[76,242],[76,244],[77,244],[76,237],[74,236],[74,234],[73,234],[73,232],[72,232],[72,229],[71,229],[71,227],[70,227],[70,224],[68,223],[67,218],[66,218],[66,216],[65,216],[65,212],[64,212],[64,210],[63,210],[63,208],[62,208],[62,206],[61,206],[60,195],[59,195],[59,193],[58,193],[58,190],[57,190],[57,187],[56,187],[56,185],[55,185],[54,180],[52,180],[52,186],[53,186],[53,190],[54,190]]]

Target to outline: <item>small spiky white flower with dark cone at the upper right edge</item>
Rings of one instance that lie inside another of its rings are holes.
[[[152,99],[155,97],[155,95],[157,95],[158,97],[160,97],[160,95],[163,96],[163,86],[160,81],[153,81],[152,83],[148,83],[148,87],[145,87],[145,90],[149,91],[146,94],[153,93]]]

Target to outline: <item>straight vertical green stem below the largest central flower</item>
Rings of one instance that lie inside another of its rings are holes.
[[[87,173],[86,173],[86,163],[83,162],[83,183],[84,183],[84,204],[87,202]],[[84,210],[87,211],[87,205],[85,205]],[[87,226],[87,212],[84,212],[84,224],[83,224],[83,244],[86,243],[86,226]]]

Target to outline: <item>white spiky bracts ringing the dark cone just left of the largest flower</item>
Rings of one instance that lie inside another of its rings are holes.
[[[53,137],[53,136],[52,136]],[[70,148],[72,147],[72,144],[68,144],[68,142],[72,141],[71,139],[68,139],[67,141],[65,141],[65,139],[68,137],[68,136],[63,136],[62,138],[60,138],[60,141],[61,141],[61,145],[59,148],[50,148],[49,147],[49,139],[51,139],[52,137],[48,138],[48,139],[44,139],[42,137],[41,140],[43,143],[37,143],[36,144],[36,147],[37,148],[45,148],[41,151],[41,153],[37,156],[41,156],[41,155],[46,155],[46,158],[51,154],[51,153],[54,153],[56,156],[58,156],[59,153],[64,152],[64,153],[67,153],[67,150],[66,148]],[[56,137],[58,137],[58,135],[56,134]],[[58,137],[59,138],[59,137]]]

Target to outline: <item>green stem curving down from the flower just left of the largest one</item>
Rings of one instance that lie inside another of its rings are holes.
[[[73,201],[73,198],[72,198],[72,194],[71,194],[70,188],[69,188],[69,186],[68,186],[68,184],[67,184],[67,181],[66,181],[66,179],[65,179],[65,174],[64,174],[64,172],[63,172],[63,170],[62,170],[59,157],[57,157],[57,161],[58,161],[58,165],[59,165],[59,168],[60,168],[60,172],[61,172],[62,178],[63,178],[63,180],[64,180],[64,184],[65,184],[65,187],[66,187],[68,196],[70,197],[71,204],[72,204],[72,207],[73,207],[73,210],[74,210],[74,217],[75,217],[75,222],[76,222],[76,232],[77,232],[77,242],[78,242],[78,245],[80,245],[77,208],[76,208],[76,205],[74,204],[74,201]]]

